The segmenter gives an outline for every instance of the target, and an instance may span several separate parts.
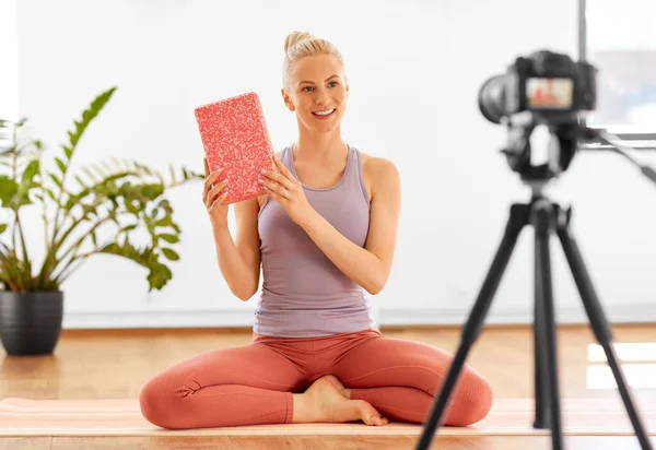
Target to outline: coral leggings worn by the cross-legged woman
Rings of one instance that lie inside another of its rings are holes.
[[[156,375],[142,387],[141,412],[169,429],[289,424],[292,393],[332,374],[390,422],[423,423],[448,371],[452,355],[376,330],[325,338],[254,333],[245,346],[210,351]],[[467,426],[492,405],[489,381],[465,365],[443,425]]]

